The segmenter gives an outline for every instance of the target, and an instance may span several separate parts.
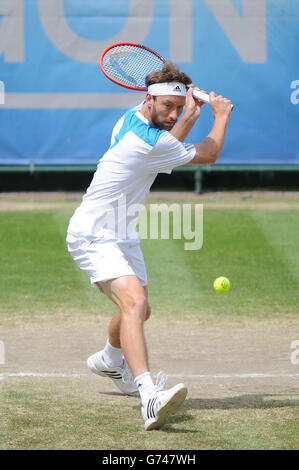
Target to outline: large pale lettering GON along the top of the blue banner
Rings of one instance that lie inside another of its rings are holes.
[[[68,57],[97,63],[112,42],[142,43],[149,32],[155,0],[128,0],[124,28],[106,40],[78,36],[68,25],[63,0],[37,0],[42,25],[51,42]],[[192,0],[169,0],[170,59],[192,62]],[[232,0],[205,0],[244,62],[266,62],[266,0],[243,0],[240,16]],[[0,0],[0,54],[5,62],[24,62],[24,0]]]

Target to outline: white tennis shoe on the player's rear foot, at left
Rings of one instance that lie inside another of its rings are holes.
[[[87,367],[94,374],[111,379],[126,395],[139,396],[137,386],[124,357],[121,366],[108,367],[104,361],[103,351],[99,351],[87,359]]]

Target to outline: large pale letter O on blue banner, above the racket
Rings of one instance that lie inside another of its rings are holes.
[[[97,63],[101,52],[113,42],[142,43],[154,14],[155,0],[131,0],[126,25],[115,36],[102,41],[91,41],[78,36],[68,25],[63,0],[38,0],[41,22],[55,47],[68,57],[88,64]]]

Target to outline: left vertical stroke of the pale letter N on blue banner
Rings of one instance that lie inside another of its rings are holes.
[[[192,62],[192,0],[170,0],[170,60]]]

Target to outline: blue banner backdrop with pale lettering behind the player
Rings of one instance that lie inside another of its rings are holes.
[[[94,165],[143,93],[98,65],[116,41],[235,104],[220,164],[299,164],[298,0],[0,0],[0,165]],[[208,105],[188,136],[209,132]]]

